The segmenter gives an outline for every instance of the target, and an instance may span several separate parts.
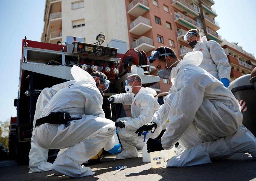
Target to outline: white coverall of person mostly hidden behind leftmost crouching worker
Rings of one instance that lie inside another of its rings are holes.
[[[64,83],[54,85],[51,88],[46,87],[41,91],[40,95],[38,96],[37,102],[36,102],[36,111],[35,111],[34,120],[33,120],[32,137],[30,141],[31,149],[28,154],[28,157],[29,157],[28,168],[30,168],[28,173],[43,172],[43,171],[51,170],[52,163],[47,162],[48,149],[44,149],[40,147],[37,144],[35,139],[36,119],[39,119],[45,105],[58,91],[75,82],[76,82],[75,80],[70,80]]]

